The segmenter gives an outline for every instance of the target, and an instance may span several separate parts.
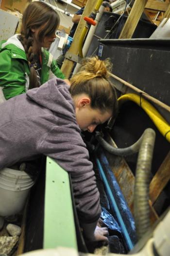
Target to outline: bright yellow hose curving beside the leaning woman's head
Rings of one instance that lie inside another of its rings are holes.
[[[129,93],[119,97],[120,103],[133,101],[148,114],[160,133],[170,142],[170,124],[159,114],[153,105],[137,94]]]

